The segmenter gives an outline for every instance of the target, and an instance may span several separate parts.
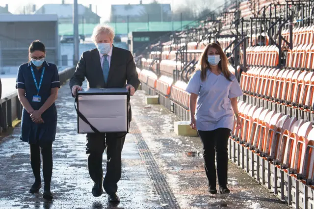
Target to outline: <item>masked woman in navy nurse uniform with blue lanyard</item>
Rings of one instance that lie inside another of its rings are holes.
[[[35,177],[30,193],[41,188],[40,154],[43,159],[43,198],[52,199],[50,183],[52,178],[52,142],[57,125],[57,111],[54,101],[58,96],[60,81],[57,67],[45,60],[43,43],[30,44],[29,62],[19,67],[16,88],[23,105],[21,140],[30,146],[30,164]]]

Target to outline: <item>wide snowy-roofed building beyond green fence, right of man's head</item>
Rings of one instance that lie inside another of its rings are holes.
[[[171,21],[170,4],[120,4],[111,5],[111,23],[129,22],[170,22]]]

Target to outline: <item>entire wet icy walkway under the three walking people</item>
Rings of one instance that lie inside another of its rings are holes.
[[[93,197],[87,170],[85,135],[77,134],[77,115],[68,85],[56,102],[58,127],[53,144],[51,202],[27,191],[33,183],[28,145],[19,128],[0,143],[0,208],[46,209],[288,209],[259,183],[229,163],[231,194],[210,195],[198,137],[177,136],[178,120],[161,105],[146,105],[138,91],[131,98],[133,121],[122,152],[121,203],[107,204],[107,195]],[[103,168],[105,173],[105,155]],[[179,204],[179,206],[177,205]]]

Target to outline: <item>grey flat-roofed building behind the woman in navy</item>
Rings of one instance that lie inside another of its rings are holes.
[[[28,62],[28,47],[36,39],[46,46],[46,60],[58,65],[57,15],[0,16],[0,73],[16,74],[18,67]]]

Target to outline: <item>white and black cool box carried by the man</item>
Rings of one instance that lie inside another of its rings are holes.
[[[78,91],[78,133],[125,132],[131,120],[126,88],[89,88]]]

